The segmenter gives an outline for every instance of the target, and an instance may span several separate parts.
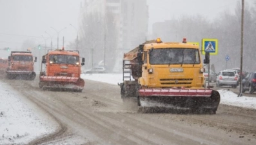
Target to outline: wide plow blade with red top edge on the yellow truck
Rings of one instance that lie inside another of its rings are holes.
[[[219,92],[210,89],[140,89],[138,105],[147,108],[207,110],[215,113]]]

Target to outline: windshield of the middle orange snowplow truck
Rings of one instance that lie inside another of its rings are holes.
[[[79,57],[74,55],[50,55],[52,64],[79,64]]]

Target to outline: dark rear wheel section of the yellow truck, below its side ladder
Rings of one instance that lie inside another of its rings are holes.
[[[121,88],[121,98],[123,102],[129,101],[132,98],[136,98],[138,95],[138,82],[137,81],[124,81],[119,84]]]

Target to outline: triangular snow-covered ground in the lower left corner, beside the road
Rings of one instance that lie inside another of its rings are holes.
[[[59,127],[45,112],[0,81],[0,144],[27,144]]]

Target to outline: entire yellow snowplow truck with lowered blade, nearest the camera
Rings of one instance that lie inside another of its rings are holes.
[[[209,63],[209,57],[204,59]],[[137,97],[143,108],[173,108],[216,113],[219,92],[204,88],[199,46],[193,43],[146,41],[124,53],[121,98]]]

